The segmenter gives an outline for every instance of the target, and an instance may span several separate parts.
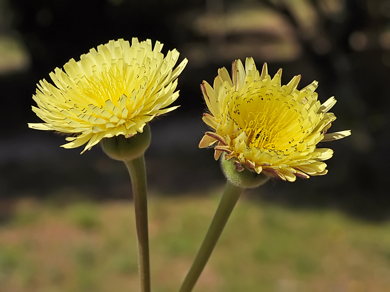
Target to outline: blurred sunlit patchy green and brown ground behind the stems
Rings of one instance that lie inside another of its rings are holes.
[[[149,201],[152,290],[178,291],[222,189]],[[138,291],[133,205],[18,201],[0,292]],[[194,292],[389,292],[390,224],[241,198]]]

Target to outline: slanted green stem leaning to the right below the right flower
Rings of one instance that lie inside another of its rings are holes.
[[[229,181],[226,182],[225,191],[217,211],[179,292],[191,292],[193,290],[243,190],[243,188],[237,187]]]

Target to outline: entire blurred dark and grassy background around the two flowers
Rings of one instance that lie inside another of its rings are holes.
[[[189,60],[146,152],[155,291],[178,290],[223,189],[199,84],[250,56],[319,81],[353,134],[327,175],[246,192],[196,291],[390,291],[390,0],[0,0],[0,292],[137,291],[124,164],[27,128],[40,79],[132,37]]]

